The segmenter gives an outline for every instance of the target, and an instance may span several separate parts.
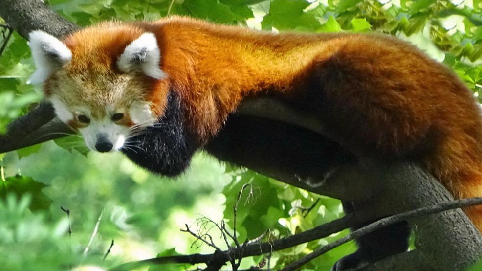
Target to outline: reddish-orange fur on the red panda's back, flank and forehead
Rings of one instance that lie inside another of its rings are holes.
[[[162,115],[168,91],[177,90],[201,143],[245,96],[296,96],[316,79],[326,114],[313,114],[351,151],[414,158],[456,198],[482,196],[481,112],[456,75],[412,45],[374,34],[273,34],[174,17],[73,34],[65,41],[69,72],[116,72],[123,48],[144,32],[156,35],[168,75],[139,74],[150,89],[146,99]],[[88,43],[97,49],[86,51]],[[482,230],[482,208],[466,213]]]

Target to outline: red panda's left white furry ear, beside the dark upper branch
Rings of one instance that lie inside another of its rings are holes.
[[[28,84],[42,83],[55,70],[72,59],[72,52],[56,37],[41,30],[28,34],[32,58],[37,70],[30,76]]]

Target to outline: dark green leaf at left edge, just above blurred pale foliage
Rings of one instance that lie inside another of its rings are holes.
[[[32,196],[30,209],[32,210],[47,210],[52,203],[52,200],[42,192],[42,189],[47,185],[34,181],[30,177],[16,175],[7,177],[5,181],[1,182],[0,198],[3,200],[6,199],[8,194],[15,194],[18,199],[22,198],[22,195],[30,194]]]

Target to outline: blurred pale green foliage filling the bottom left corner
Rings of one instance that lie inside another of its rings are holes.
[[[98,263],[98,257],[72,253],[68,220],[47,219],[44,211],[30,211],[31,197],[9,194],[0,201],[2,270],[66,270],[79,263]],[[55,263],[55,264],[52,264]]]

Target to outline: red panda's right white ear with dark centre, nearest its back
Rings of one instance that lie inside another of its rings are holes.
[[[155,79],[166,77],[159,68],[161,52],[153,33],[144,33],[124,49],[117,60],[117,67],[123,72],[142,70]]]

